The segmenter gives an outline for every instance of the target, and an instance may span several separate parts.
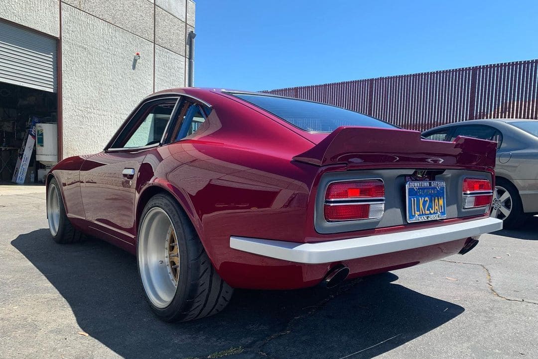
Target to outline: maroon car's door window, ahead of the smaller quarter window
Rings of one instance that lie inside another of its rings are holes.
[[[153,100],[142,105],[112,148],[138,148],[160,143],[176,102],[176,99]]]

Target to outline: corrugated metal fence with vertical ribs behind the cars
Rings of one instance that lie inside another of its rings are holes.
[[[426,130],[485,118],[538,119],[538,59],[261,91]]]

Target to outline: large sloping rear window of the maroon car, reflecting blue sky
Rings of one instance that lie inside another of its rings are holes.
[[[340,126],[398,128],[362,113],[317,102],[244,93],[233,93],[233,96],[271,112],[305,131],[332,132]]]

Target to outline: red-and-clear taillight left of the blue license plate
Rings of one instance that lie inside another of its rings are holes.
[[[381,218],[385,185],[378,179],[333,182],[325,191],[323,211],[328,222]]]

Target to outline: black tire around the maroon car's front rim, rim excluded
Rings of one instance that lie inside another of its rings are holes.
[[[52,213],[49,213],[49,201],[53,200],[52,196],[57,196],[56,199],[58,200],[59,215],[57,230],[52,228],[50,220]],[[47,189],[47,218],[49,219],[49,229],[51,230],[52,239],[54,239],[56,243],[68,244],[80,241],[82,233],[76,230],[73,224],[69,221],[69,218],[67,218],[60,187],[54,178],[49,182]]]

